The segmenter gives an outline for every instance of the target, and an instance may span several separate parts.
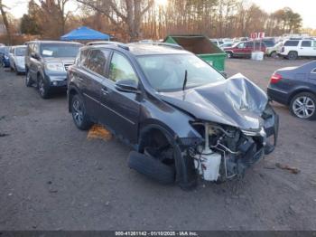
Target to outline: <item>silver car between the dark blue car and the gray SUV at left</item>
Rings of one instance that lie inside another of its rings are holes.
[[[25,53],[26,46],[19,45],[14,46],[9,54],[10,68],[16,71],[16,74],[25,72]]]

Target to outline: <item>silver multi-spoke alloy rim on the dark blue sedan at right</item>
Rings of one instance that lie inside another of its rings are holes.
[[[315,112],[315,103],[307,96],[298,97],[293,101],[293,113],[301,119],[309,119]]]

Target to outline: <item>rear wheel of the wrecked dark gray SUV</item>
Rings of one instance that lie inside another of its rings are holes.
[[[73,122],[80,130],[91,128],[93,123],[88,119],[85,104],[78,94],[71,99],[71,115]]]

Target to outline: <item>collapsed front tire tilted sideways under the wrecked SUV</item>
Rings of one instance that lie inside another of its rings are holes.
[[[153,156],[145,156],[144,154],[132,151],[128,156],[128,166],[160,184],[171,185],[174,183],[174,168],[163,164]]]

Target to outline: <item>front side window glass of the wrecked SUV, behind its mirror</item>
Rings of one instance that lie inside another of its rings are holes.
[[[134,80],[138,78],[130,62],[121,54],[114,52],[110,63],[109,79],[111,81]]]

